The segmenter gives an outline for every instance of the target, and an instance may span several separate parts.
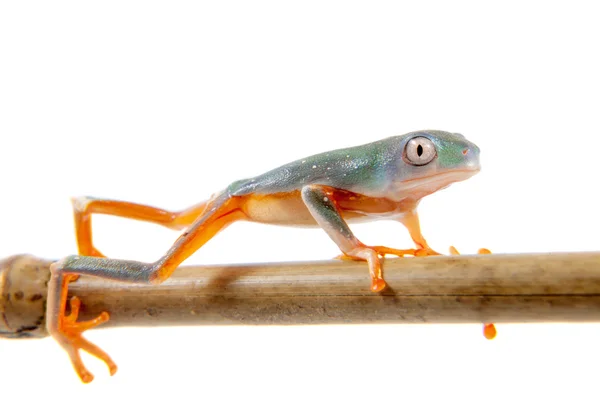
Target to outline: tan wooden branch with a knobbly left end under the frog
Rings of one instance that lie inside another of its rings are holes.
[[[50,261],[0,261],[0,336],[43,337]],[[600,252],[387,259],[369,291],[352,261],[180,267],[162,285],[81,277],[81,319],[104,327],[600,321]]]

